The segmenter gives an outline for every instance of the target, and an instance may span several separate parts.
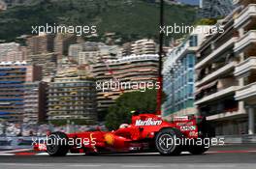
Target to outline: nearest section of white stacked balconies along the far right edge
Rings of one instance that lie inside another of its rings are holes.
[[[242,120],[245,126],[244,132],[255,134],[256,129],[256,1],[236,0],[242,9],[235,14],[234,28],[239,32],[238,41],[234,46],[235,56],[239,63],[235,69],[235,76],[240,88],[236,91],[235,99],[244,113]],[[242,109],[243,107],[243,109]],[[238,117],[239,118],[239,117]],[[243,128],[242,128],[243,129]]]

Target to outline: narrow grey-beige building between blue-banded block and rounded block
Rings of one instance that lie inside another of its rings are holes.
[[[46,122],[47,89],[46,82],[35,81],[24,84],[23,123],[35,125]]]

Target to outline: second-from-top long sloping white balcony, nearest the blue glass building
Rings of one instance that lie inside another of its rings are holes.
[[[237,62],[233,61],[229,64],[225,65],[224,67],[221,67],[218,70],[212,71],[209,74],[207,74],[202,80],[198,81],[196,83],[196,87],[202,86],[203,84],[207,83],[208,81],[211,81],[214,78],[219,77],[220,75],[229,72],[230,70],[233,70],[237,65]]]

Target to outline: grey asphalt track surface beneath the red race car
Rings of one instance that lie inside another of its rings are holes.
[[[1,152],[0,152],[1,153]],[[158,154],[112,155],[0,155],[0,169],[256,169],[256,145],[213,147],[206,155],[162,156]]]

